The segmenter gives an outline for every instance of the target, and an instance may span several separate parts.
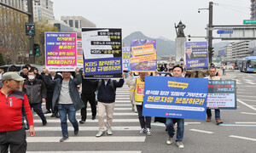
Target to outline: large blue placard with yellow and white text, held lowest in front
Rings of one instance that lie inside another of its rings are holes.
[[[145,77],[143,116],[205,120],[208,80]]]

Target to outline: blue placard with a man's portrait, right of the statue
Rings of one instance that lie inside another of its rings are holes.
[[[187,69],[207,69],[208,43],[207,42],[185,42],[185,63]]]

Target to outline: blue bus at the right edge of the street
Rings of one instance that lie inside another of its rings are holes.
[[[256,56],[248,56],[238,60],[239,70],[243,72],[256,72]]]

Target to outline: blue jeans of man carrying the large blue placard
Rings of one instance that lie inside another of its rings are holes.
[[[171,138],[173,138],[173,136],[174,136],[174,127],[173,127],[174,122],[177,122],[176,141],[182,141],[183,133],[184,133],[184,119],[183,118],[166,118],[166,128],[168,131],[168,135]]]

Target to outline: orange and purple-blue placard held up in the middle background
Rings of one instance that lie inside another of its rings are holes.
[[[154,72],[157,68],[156,63],[155,40],[131,40],[131,71]]]

